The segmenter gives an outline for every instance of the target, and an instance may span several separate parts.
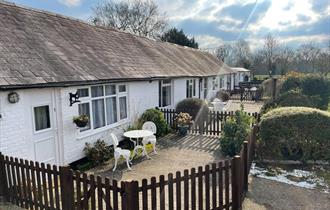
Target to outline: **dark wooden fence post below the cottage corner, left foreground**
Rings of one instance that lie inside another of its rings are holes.
[[[75,209],[73,174],[70,167],[60,167],[61,201],[63,210]]]

